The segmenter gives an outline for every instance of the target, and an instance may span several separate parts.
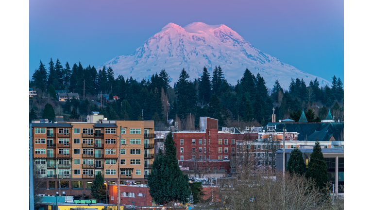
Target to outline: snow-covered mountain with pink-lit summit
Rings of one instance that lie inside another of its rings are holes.
[[[219,65],[232,85],[237,84],[246,68],[255,76],[260,73],[269,88],[276,79],[281,87],[288,89],[291,77],[303,78],[306,85],[316,78],[261,52],[223,24],[207,25],[202,22],[193,22],[185,27],[169,23],[146,40],[135,53],[117,56],[103,65],[111,66],[117,75],[121,74],[124,78],[132,76],[137,80],[150,79],[152,74],[165,69],[171,84],[178,80],[183,68],[190,79],[194,79],[202,75],[203,66],[212,76],[213,69]],[[321,86],[331,84],[320,77],[318,81]]]

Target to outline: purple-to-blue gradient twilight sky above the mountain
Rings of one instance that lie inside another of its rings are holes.
[[[299,70],[344,81],[341,0],[33,0],[30,77],[40,60],[100,66],[134,53],[170,22],[197,21],[225,24]]]

